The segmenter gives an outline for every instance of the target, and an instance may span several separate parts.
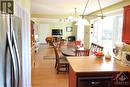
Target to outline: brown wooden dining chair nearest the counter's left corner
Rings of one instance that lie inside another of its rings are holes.
[[[57,69],[57,74],[59,74],[59,72],[68,72],[69,63],[66,57],[61,55],[60,49],[56,46],[54,46],[54,51],[56,57],[55,68]]]

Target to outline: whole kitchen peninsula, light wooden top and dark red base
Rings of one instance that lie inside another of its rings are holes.
[[[119,60],[96,56],[70,56],[67,60],[69,87],[130,87],[130,66]]]

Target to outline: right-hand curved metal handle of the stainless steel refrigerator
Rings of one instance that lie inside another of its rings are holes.
[[[17,83],[17,87],[19,87],[19,82],[20,82],[20,57],[19,57],[19,52],[18,52],[18,46],[16,43],[16,38],[15,38],[15,33],[14,31],[12,31],[12,41],[14,47],[15,47],[15,53],[16,53],[16,61],[17,61],[17,68],[18,68],[18,83]]]

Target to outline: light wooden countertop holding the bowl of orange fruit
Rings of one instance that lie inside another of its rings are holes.
[[[106,59],[97,58],[96,56],[77,56],[67,57],[69,64],[76,73],[82,72],[118,72],[129,71],[130,66],[121,64],[119,60],[114,58]]]

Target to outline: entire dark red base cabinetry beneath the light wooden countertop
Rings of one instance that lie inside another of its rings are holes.
[[[69,66],[69,87],[130,87],[129,72],[74,72]]]

